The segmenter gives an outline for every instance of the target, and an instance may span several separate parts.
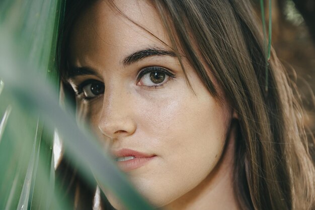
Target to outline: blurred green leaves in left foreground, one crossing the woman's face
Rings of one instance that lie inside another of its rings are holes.
[[[55,128],[87,181],[97,177],[128,209],[151,209],[92,134],[59,106],[55,50],[64,4],[0,3],[0,209],[68,209],[54,189]]]

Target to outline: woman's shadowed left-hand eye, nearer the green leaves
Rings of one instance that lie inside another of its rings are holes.
[[[77,87],[77,95],[84,99],[92,99],[104,93],[104,83],[97,80],[87,80]]]

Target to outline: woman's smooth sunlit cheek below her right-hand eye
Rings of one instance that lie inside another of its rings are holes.
[[[190,154],[224,143],[229,113],[208,94],[196,97],[176,92],[159,100],[141,101],[137,107],[138,130],[150,136],[150,145],[159,147],[161,155],[175,148]]]

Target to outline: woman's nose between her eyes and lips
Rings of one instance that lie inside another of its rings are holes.
[[[99,128],[103,135],[116,139],[135,132],[136,122],[133,118],[130,95],[127,91],[118,91],[118,89],[111,94],[104,94],[99,119]]]

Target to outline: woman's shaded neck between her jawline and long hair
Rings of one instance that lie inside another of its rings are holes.
[[[226,139],[222,156],[211,173],[194,189],[164,206],[167,210],[238,210],[233,190],[235,123]],[[185,183],[183,183],[185,184]]]

